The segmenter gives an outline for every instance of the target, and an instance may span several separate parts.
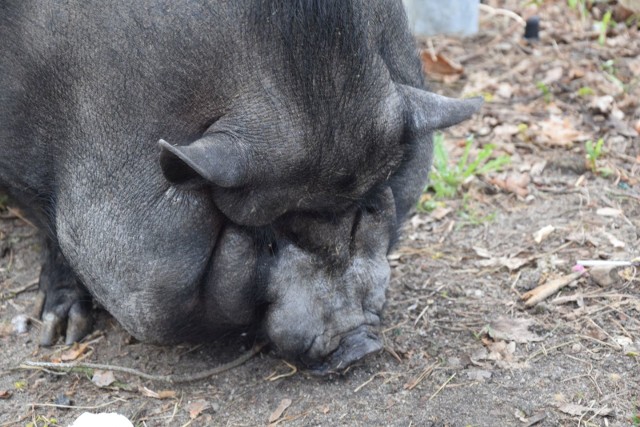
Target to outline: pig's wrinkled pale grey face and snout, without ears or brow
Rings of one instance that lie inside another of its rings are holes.
[[[319,373],[379,350],[373,328],[389,282],[391,190],[341,213],[285,216],[275,229],[264,327],[277,349]]]

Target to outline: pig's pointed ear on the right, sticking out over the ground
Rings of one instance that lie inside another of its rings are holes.
[[[470,118],[483,103],[481,97],[455,99],[410,86],[397,87],[406,100],[412,127],[416,130],[453,126]]]

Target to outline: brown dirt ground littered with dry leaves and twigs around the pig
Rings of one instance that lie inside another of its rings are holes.
[[[601,36],[597,24],[615,1],[584,16],[564,1],[486,3],[539,15],[540,40],[524,43],[515,17],[485,8],[478,35],[420,44],[462,66],[444,64],[437,75],[429,67],[434,90],[488,101],[446,133],[449,157],[460,158],[473,134],[472,156],[493,144],[493,156],[511,162],[472,175],[452,199],[423,198],[436,209],[410,218],[390,255],[383,352],[333,378],[296,371],[269,349],[181,384],[114,369],[26,369],[67,360],[186,375],[251,343],[141,344],[99,311],[80,347],[38,348],[37,319],[27,332],[16,328],[35,305],[40,242],[5,206],[0,426],[66,426],[86,411],[118,412],[136,426],[640,426],[637,25]],[[589,164],[586,141],[600,138]],[[582,272],[579,260],[630,265]],[[526,305],[527,292],[559,282],[566,286]]]

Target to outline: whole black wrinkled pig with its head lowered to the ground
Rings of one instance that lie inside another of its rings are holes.
[[[43,230],[41,343],[259,326],[320,373],[381,344],[431,135],[399,0],[0,4],[0,187]]]

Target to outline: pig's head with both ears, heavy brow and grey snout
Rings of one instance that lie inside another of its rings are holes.
[[[345,114],[347,126],[317,134],[273,133],[274,124],[265,130],[278,137],[270,145],[239,126],[223,131],[223,119],[190,145],[162,141],[162,166],[178,185],[209,186],[230,221],[272,230],[264,328],[281,354],[332,372],[381,348],[374,327],[403,194],[394,176],[411,147],[430,150],[434,129],[466,119],[480,103],[395,85],[372,109],[378,117],[349,122]]]

